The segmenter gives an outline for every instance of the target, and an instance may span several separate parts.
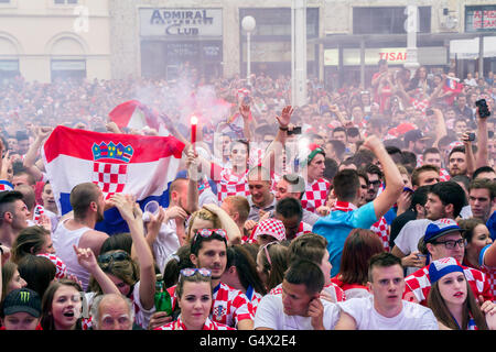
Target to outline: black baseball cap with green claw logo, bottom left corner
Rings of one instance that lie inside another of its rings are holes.
[[[6,296],[2,316],[28,312],[34,318],[40,318],[41,309],[41,298],[37,293],[29,288],[18,288]]]

